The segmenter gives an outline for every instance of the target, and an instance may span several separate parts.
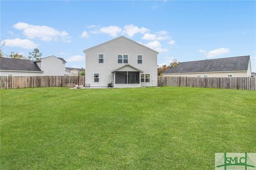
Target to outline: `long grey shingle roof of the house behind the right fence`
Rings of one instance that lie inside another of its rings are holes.
[[[163,74],[247,71],[249,61],[250,56],[238,56],[211,60],[181,62],[174,68],[166,69]]]

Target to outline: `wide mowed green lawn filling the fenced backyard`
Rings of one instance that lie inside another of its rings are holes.
[[[256,91],[1,90],[1,169],[214,169],[256,152]]]

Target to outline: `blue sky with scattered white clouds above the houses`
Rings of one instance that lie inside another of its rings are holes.
[[[126,36],[158,50],[158,64],[250,55],[256,60],[255,1],[1,1],[5,54],[37,47],[66,66],[83,50]]]

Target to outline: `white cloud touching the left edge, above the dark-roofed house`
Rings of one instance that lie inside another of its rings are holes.
[[[29,39],[20,39],[20,38],[5,39],[5,40],[2,40],[2,44],[4,42],[6,43],[5,46],[21,47],[21,48],[27,48],[27,49],[34,49],[38,46],[38,44],[34,43]]]

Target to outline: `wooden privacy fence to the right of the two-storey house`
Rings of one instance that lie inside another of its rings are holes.
[[[220,89],[256,90],[256,78],[197,78],[158,76],[158,86],[204,87]]]

